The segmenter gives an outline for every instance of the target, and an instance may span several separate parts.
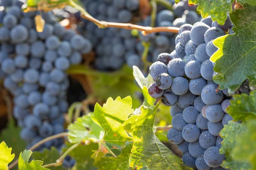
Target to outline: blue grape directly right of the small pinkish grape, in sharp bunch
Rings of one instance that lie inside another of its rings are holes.
[[[205,111],[205,115],[210,122],[220,122],[224,116],[221,105],[210,105]]]

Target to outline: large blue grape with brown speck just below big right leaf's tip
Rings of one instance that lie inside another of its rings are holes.
[[[201,93],[201,98],[203,102],[207,105],[219,104],[223,99],[222,91],[218,90],[216,85],[210,84],[206,85]]]

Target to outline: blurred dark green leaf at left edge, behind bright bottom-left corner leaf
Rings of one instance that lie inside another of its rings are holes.
[[[0,134],[0,141],[4,141],[8,146],[12,146],[12,152],[15,153],[16,158],[18,158],[20,152],[26,148],[26,143],[20,139],[20,130],[21,127],[15,126],[14,120],[10,120],[7,127],[3,129]]]

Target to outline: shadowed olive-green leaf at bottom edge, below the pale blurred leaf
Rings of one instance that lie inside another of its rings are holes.
[[[65,152],[72,145],[66,143],[66,147],[62,149],[62,152]],[[76,170],[97,170],[93,166],[94,159],[91,158],[94,150],[98,150],[98,144],[90,143],[89,145],[79,145],[69,153],[69,156],[76,160]]]

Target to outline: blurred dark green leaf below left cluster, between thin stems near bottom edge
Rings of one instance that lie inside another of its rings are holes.
[[[44,149],[43,152],[35,151],[32,154],[33,159],[44,161],[44,164],[55,162],[61,155],[58,153],[56,147],[51,147],[50,150]],[[51,170],[67,170],[63,166],[51,167]]]

